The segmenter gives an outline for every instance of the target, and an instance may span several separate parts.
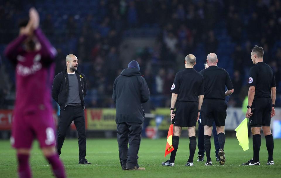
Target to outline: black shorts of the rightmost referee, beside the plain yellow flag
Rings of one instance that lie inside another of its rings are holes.
[[[270,126],[271,121],[271,98],[254,98],[252,108],[253,115],[249,118],[249,126]]]

